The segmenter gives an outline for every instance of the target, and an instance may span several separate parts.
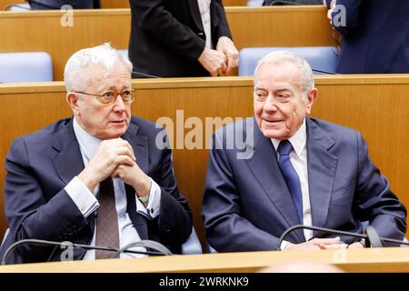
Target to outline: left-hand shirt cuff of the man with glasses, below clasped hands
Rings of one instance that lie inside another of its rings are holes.
[[[98,200],[95,198],[94,194],[89,191],[77,176],[75,176],[64,189],[68,196],[73,199],[75,206],[78,207],[79,211],[81,211],[85,218],[99,207]]]

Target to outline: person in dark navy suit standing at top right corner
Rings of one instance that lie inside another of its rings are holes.
[[[408,1],[327,0],[327,5],[342,35],[337,73],[409,73]]]

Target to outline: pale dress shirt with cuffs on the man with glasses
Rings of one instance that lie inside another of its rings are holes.
[[[83,157],[84,165],[87,166],[90,159],[94,156],[95,151],[99,144],[102,142],[101,139],[96,138],[93,135],[88,134],[78,123],[75,118],[73,121],[75,137],[80,146],[81,155]],[[67,157],[70,158],[70,157]],[[150,196],[148,205],[145,206],[138,200],[136,201],[136,211],[148,219],[155,218],[160,212],[160,201],[161,201],[161,188],[151,179],[152,186],[150,189]],[[115,208],[118,217],[118,232],[119,232],[119,246],[124,247],[128,244],[135,243],[141,240],[138,235],[135,226],[129,215],[126,213],[126,192],[125,184],[119,178],[113,178],[114,191],[115,191]],[[98,194],[99,185],[95,187],[94,191],[91,192],[85,184],[75,176],[70,183],[65,186],[65,191],[73,199],[75,205],[81,211],[85,218],[95,212],[99,207],[98,200],[96,196]],[[96,227],[96,219],[95,219]],[[95,246],[95,231],[94,237],[90,246]],[[132,250],[145,251],[143,247],[134,247]],[[121,254],[123,257],[140,257],[145,255],[136,254]],[[95,250],[88,250],[84,256],[85,260],[95,259]]]

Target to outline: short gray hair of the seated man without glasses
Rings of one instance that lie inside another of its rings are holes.
[[[301,90],[305,95],[314,88],[314,75],[311,66],[307,63],[301,55],[296,55],[288,51],[274,51],[267,55],[264,55],[257,63],[254,70],[254,75],[257,75],[258,71],[264,64],[282,64],[284,62],[290,62],[295,65],[300,72]]]

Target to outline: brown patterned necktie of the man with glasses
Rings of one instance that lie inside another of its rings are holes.
[[[96,246],[119,248],[118,217],[115,208],[114,185],[111,177],[99,184],[99,208],[96,216]],[[114,258],[118,254],[110,251],[95,251],[95,259]]]

